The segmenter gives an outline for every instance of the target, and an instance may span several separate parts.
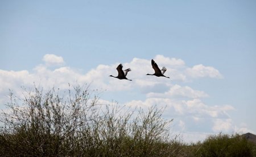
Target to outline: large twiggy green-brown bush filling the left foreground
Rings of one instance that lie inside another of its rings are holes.
[[[168,137],[163,110],[97,102],[97,93],[79,85],[67,93],[25,90],[22,99],[11,93],[0,117],[0,156],[183,155]]]

